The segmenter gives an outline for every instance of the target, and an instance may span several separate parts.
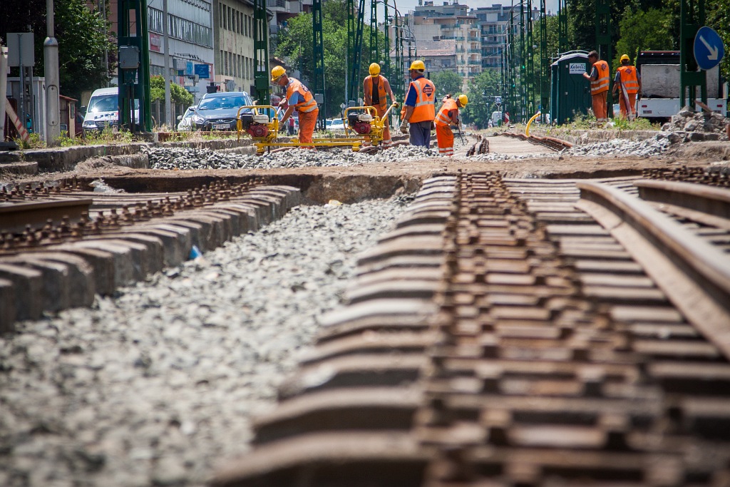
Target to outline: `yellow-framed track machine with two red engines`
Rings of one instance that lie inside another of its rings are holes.
[[[352,147],[353,151],[360,150],[361,145],[368,141],[372,145],[380,145],[383,142],[383,129],[385,120],[393,107],[393,103],[382,118],[377,116],[375,107],[350,107],[345,110],[345,135],[349,136],[350,131],[357,134],[357,137],[345,138],[321,138],[312,139],[311,144],[301,142],[277,142],[279,133],[279,118],[277,108],[272,105],[245,105],[239,107],[237,118],[238,139],[241,140],[241,133],[246,132],[253,139],[257,154],[263,154],[264,150],[271,147]],[[242,110],[250,109],[250,112],[241,113]],[[347,121],[345,121],[347,120]]]

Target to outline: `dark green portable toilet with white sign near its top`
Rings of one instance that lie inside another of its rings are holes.
[[[591,108],[591,82],[583,77],[588,72],[588,53],[566,53],[553,63],[550,93],[553,95],[551,118],[566,123],[578,114],[588,114]]]

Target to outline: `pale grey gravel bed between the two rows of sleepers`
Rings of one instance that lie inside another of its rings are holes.
[[[0,486],[202,486],[247,450],[399,200],[255,234],[0,338]]]

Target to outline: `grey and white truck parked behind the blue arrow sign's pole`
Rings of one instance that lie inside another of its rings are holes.
[[[677,115],[680,107],[680,52],[642,50],[637,56],[637,71],[641,74],[641,99],[637,116],[664,121]],[[713,112],[726,115],[727,100],[718,66],[707,71],[707,106]],[[696,99],[699,99],[699,90]],[[702,110],[699,105],[697,111]]]

